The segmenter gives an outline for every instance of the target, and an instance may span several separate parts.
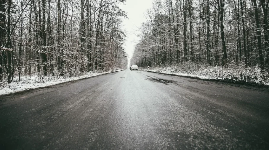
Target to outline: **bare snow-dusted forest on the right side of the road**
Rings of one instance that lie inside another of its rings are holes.
[[[259,68],[268,74],[269,0],[156,0],[132,64]]]

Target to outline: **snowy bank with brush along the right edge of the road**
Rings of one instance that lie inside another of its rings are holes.
[[[216,79],[248,85],[269,85],[269,72],[261,72],[258,67],[210,67],[195,63],[182,63],[177,66],[149,67],[140,70],[200,79]]]

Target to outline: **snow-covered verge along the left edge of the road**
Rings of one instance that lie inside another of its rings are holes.
[[[15,93],[18,91],[29,90],[33,88],[41,88],[50,85],[55,85],[59,83],[64,83],[73,80],[79,80],[84,78],[89,78],[97,75],[107,74],[111,72],[121,71],[123,69],[108,71],[108,72],[87,72],[83,75],[75,77],[66,77],[66,76],[31,76],[31,77],[16,77],[13,79],[12,83],[7,83],[6,80],[0,82],[0,95]]]

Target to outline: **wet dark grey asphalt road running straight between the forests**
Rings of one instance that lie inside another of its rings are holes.
[[[124,70],[0,96],[0,149],[269,149],[269,92]]]

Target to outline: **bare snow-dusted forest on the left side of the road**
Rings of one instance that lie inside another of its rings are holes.
[[[125,68],[124,1],[0,0],[0,81]]]

